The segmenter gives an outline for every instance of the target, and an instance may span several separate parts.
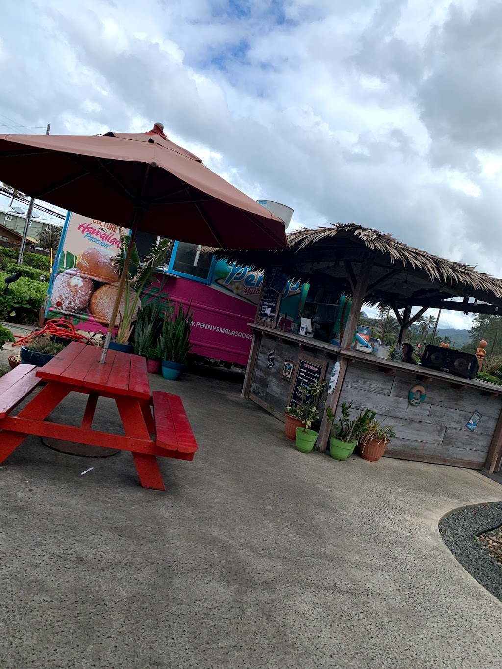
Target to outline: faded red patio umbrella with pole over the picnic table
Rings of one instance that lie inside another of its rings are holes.
[[[288,248],[284,224],[171,142],[145,134],[0,135],[0,181],[84,216],[131,227],[102,361],[137,231],[229,249]]]

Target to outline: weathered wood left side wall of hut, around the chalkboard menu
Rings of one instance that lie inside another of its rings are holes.
[[[270,351],[274,351],[274,367],[271,369],[268,368]],[[295,369],[290,381],[282,378],[286,358],[295,361]],[[262,337],[249,397],[282,421],[284,421],[284,408],[288,405],[290,390],[292,384],[295,383],[300,360],[315,361],[318,365],[327,363],[324,378],[329,380],[331,377],[335,360],[327,361],[321,351],[302,351],[297,345],[288,344],[275,337],[266,337],[266,335]]]

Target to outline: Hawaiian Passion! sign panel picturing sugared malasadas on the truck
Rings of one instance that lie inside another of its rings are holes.
[[[68,212],[52,272],[46,318],[63,316],[80,330],[106,332],[116,298],[112,258],[129,228]]]

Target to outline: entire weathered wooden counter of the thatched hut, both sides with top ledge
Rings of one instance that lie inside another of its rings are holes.
[[[387,456],[480,469],[493,464],[502,450],[502,386],[359,351],[341,351],[331,344],[266,326],[251,327],[255,341],[243,395],[279,419],[284,420],[292,385],[282,378],[284,359],[294,361],[295,369],[301,360],[323,364],[327,380],[336,360],[345,357],[351,364],[339,407],[353,401],[354,409],[376,411],[379,420],[394,426],[396,438]],[[414,406],[408,394],[417,384],[424,387],[426,397]],[[467,422],[474,411],[481,413],[481,419],[471,431]]]

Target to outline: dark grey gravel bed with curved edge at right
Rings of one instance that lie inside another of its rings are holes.
[[[502,565],[473,535],[502,520],[502,502],[452,511],[439,523],[442,540],[459,563],[494,597],[502,601]]]

